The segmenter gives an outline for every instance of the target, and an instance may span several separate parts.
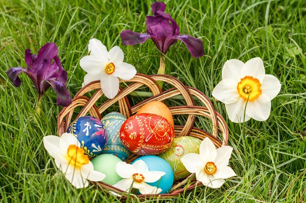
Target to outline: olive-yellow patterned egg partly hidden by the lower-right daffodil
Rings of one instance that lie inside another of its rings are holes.
[[[201,140],[196,137],[184,136],[176,137],[164,153],[158,156],[166,160],[172,167],[175,181],[188,177],[191,173],[185,168],[180,159],[189,153],[199,153]]]

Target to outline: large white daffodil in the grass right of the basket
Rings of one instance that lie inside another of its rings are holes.
[[[246,63],[237,59],[226,61],[222,80],[213,90],[213,96],[225,104],[229,119],[235,123],[253,118],[265,121],[271,111],[271,100],[281,90],[280,81],[265,74],[260,57]]]

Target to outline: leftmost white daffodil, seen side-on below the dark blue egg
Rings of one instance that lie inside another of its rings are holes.
[[[105,175],[93,170],[93,165],[80,142],[71,133],[61,137],[44,137],[44,148],[54,158],[56,166],[65,174],[66,179],[76,188],[88,186],[90,181],[102,181]]]

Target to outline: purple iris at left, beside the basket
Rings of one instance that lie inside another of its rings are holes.
[[[71,98],[66,87],[67,72],[63,70],[60,58],[57,56],[58,52],[55,43],[46,43],[38,51],[38,55],[34,55],[30,49],[26,49],[24,54],[26,69],[15,67],[9,69],[6,74],[16,87],[21,84],[18,75],[22,72],[27,74],[38,91],[38,100],[52,86],[57,93],[57,105],[68,106],[71,104]]]

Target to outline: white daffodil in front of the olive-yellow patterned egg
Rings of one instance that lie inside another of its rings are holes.
[[[211,188],[219,188],[225,182],[225,178],[236,176],[236,173],[228,166],[232,154],[232,147],[223,146],[216,149],[213,142],[206,137],[200,145],[200,153],[189,153],[180,160],[185,168],[196,173],[198,181]]]

